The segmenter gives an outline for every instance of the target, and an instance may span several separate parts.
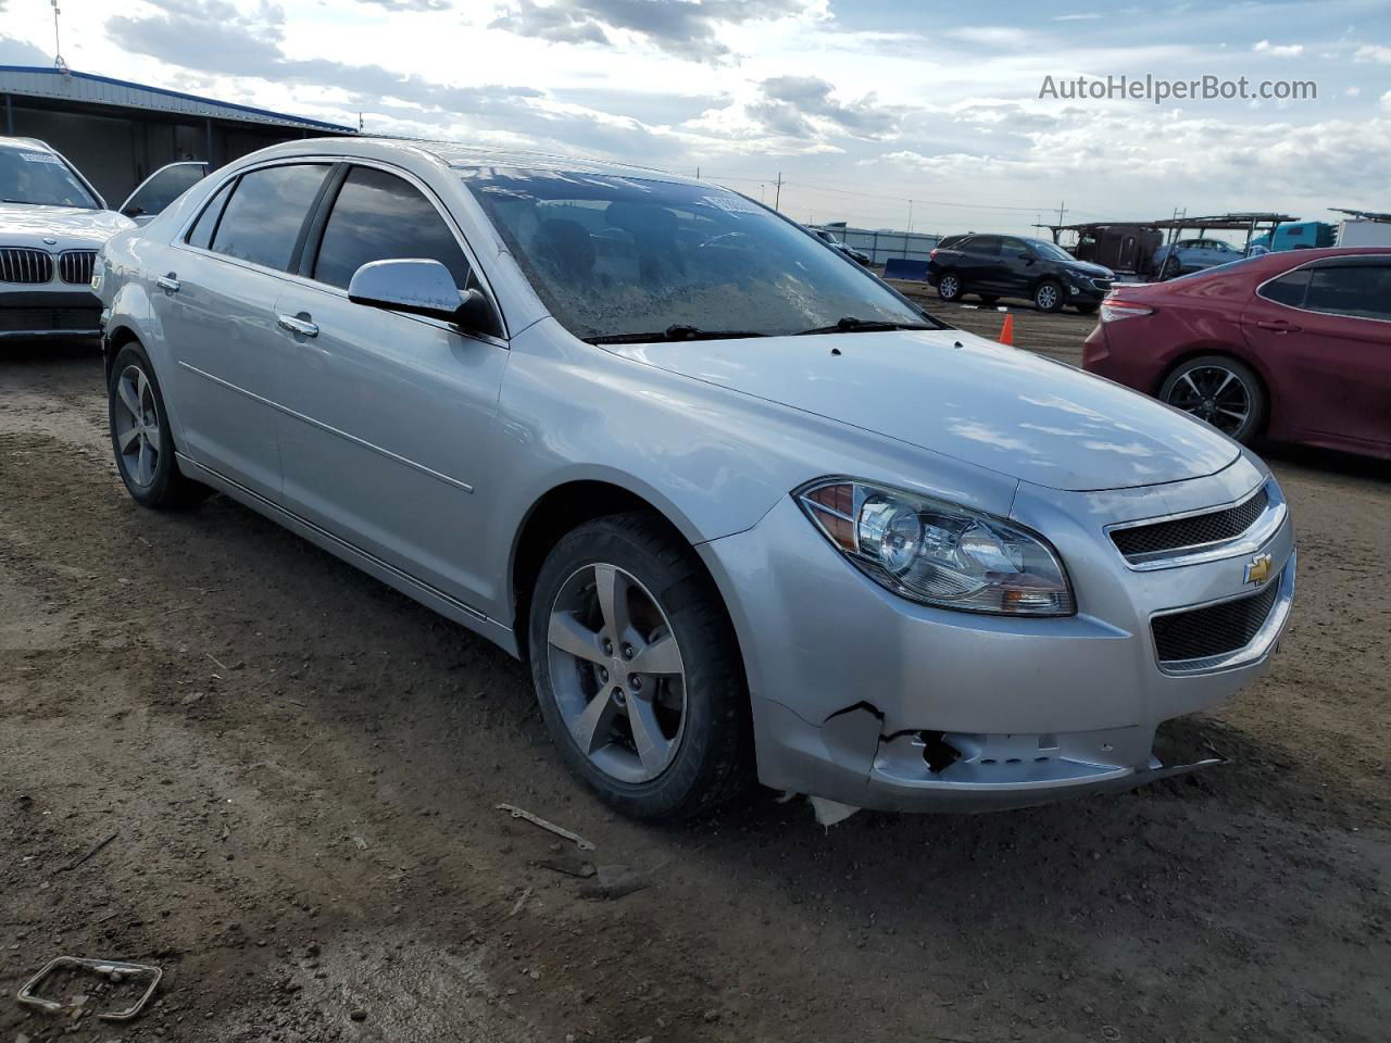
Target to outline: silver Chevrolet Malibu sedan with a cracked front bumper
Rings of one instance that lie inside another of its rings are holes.
[[[1241,445],[700,181],[281,145],[96,284],[138,503],[216,490],[495,641],[629,815],[1128,789],[1288,619]]]

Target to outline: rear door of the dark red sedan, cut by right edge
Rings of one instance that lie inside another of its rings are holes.
[[[1285,273],[1259,288],[1242,330],[1292,427],[1391,444],[1391,256]]]

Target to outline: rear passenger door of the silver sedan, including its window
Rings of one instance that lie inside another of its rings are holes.
[[[281,485],[275,299],[328,170],[289,163],[228,181],[152,288],[184,451],[268,498]]]

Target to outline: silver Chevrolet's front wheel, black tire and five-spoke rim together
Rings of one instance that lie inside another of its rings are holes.
[[[690,547],[650,515],[563,537],[536,581],[531,680],[565,762],[618,811],[684,819],[751,772],[729,617]]]

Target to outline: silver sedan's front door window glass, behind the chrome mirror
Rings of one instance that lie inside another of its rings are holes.
[[[376,260],[424,257],[469,286],[469,263],[440,211],[415,185],[371,167],[353,167],[334,202],[313,277],[346,288],[353,273]]]

